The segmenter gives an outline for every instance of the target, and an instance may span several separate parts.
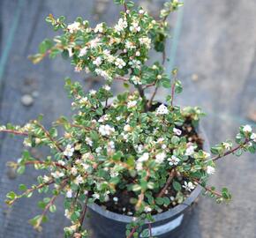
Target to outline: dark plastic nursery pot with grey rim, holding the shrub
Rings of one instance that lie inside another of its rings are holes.
[[[198,130],[200,137],[204,139],[204,150],[209,151],[209,144],[204,130],[201,127]],[[184,203],[154,215],[152,223],[152,235],[159,238],[179,237],[182,234],[183,226],[190,220],[192,213],[192,204],[200,195],[201,187],[197,186],[191,195],[184,200]],[[124,238],[125,227],[132,221],[132,217],[109,212],[100,205],[89,205],[90,224],[93,228],[94,238]],[[147,229],[147,226],[144,227]],[[139,235],[139,237],[148,237]]]

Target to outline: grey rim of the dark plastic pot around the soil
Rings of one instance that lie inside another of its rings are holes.
[[[199,135],[201,135],[202,138],[204,139],[204,145],[203,145],[204,150],[209,152],[210,146],[209,146],[209,142],[208,142],[205,130],[203,130],[202,127],[199,126],[198,131],[199,131]],[[202,190],[201,186],[198,185],[196,189],[192,191],[190,196],[184,200],[182,204],[177,205],[166,212],[162,212],[154,215],[153,216],[154,222],[169,219],[171,217],[177,217],[179,214],[183,213],[186,210],[186,208],[192,205],[192,203],[196,200],[196,198],[199,197],[201,190]],[[127,215],[119,214],[116,212],[110,212],[108,210],[103,209],[102,206],[100,205],[91,204],[91,205],[88,205],[88,207],[92,209],[94,212],[99,213],[105,218],[114,219],[119,222],[130,223],[132,222],[132,220],[136,219],[135,217],[132,217],[132,216],[127,216]]]

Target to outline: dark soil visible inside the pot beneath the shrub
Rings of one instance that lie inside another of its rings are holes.
[[[203,139],[200,138],[198,135],[196,129],[192,126],[192,120],[190,118],[187,118],[187,120],[184,122],[183,126],[177,127],[179,130],[182,130],[182,136],[186,137],[188,141],[195,143],[198,145],[198,150],[203,148]],[[192,158],[191,158],[192,160]],[[175,177],[175,179],[180,182],[181,184],[184,183],[183,177]],[[155,197],[156,197],[155,193]],[[189,197],[191,192],[187,192],[183,190],[183,194],[186,197]],[[172,186],[169,187],[168,190],[166,190],[164,197],[176,197],[177,192],[172,189]],[[114,197],[118,198],[118,202],[114,201]],[[135,194],[132,191],[127,190],[117,190],[117,193],[115,195],[109,195],[109,200],[105,203],[100,203],[99,201],[95,201],[96,204],[101,205],[106,210],[110,212],[116,212],[119,214],[125,214],[128,216],[132,216],[135,213],[135,206],[131,204],[131,198],[136,197]],[[160,212],[166,212],[169,209],[175,207],[177,205],[177,201],[170,200],[169,206],[163,206],[161,207],[160,211],[153,211],[151,212],[153,215],[160,213]]]

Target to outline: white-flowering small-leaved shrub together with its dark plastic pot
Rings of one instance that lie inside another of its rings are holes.
[[[64,227],[65,237],[89,237],[83,229],[87,208],[98,237],[169,237],[200,190],[218,203],[230,201],[229,190],[216,191],[207,186],[207,180],[215,173],[216,160],[255,152],[256,134],[251,126],[241,126],[237,145],[228,140],[208,149],[206,136],[200,133],[200,108],[174,104],[175,93],[182,91],[181,82],[177,69],[169,78],[162,64],[167,18],[182,3],[169,1],[160,19],[153,19],[132,1],[114,2],[123,5],[124,11],[113,27],[101,23],[91,28],[81,18],[70,25],[64,17],[49,15],[46,19],[62,34],[43,41],[39,53],[31,56],[33,62],[62,54],[72,59],[75,71],[101,76],[106,85],[84,93],[78,82],[67,78],[72,120],[62,116],[46,129],[40,115],[25,126],[0,127],[1,132],[25,136],[27,147],[50,149],[45,160],[25,151],[17,162],[9,163],[19,174],[29,165],[44,174],[31,188],[20,184],[22,192],[9,192],[6,203],[32,197],[35,191],[48,194],[39,202],[41,215],[30,220],[41,230],[47,212],[56,211],[56,198],[63,195],[65,216],[72,223]],[[147,64],[151,48],[162,52],[162,63]],[[123,81],[125,88],[115,98],[111,93],[114,80]],[[163,103],[154,100],[161,86],[171,89]],[[147,96],[149,88],[153,93]]]

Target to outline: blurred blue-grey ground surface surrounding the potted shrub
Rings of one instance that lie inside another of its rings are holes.
[[[152,11],[162,3],[140,2]],[[73,73],[69,63],[61,58],[39,65],[27,60],[43,38],[54,35],[43,20],[49,13],[65,15],[71,22],[79,15],[94,23],[101,20],[111,24],[118,18],[117,12],[111,0],[1,0],[0,124],[23,124],[42,113],[49,126],[59,115],[70,115],[70,100],[63,89],[66,76],[84,81],[87,90],[102,84],[84,80],[87,76]],[[183,24],[177,14],[171,24],[177,27],[177,33],[180,30],[174,65],[180,69],[184,93],[177,102],[199,105],[207,112],[203,125],[212,144],[233,138],[238,125],[248,123],[256,112],[256,1],[185,1]],[[174,48],[169,45],[169,56],[174,55],[171,49]],[[120,86],[114,88],[117,92]],[[33,96],[32,106],[22,104],[24,94]],[[51,221],[38,234],[27,223],[40,212],[35,199],[21,199],[11,209],[4,205],[7,191],[18,190],[19,183],[32,184],[37,175],[29,169],[25,175],[15,177],[6,167],[6,162],[19,158],[21,151],[20,138],[0,135],[0,237],[62,237],[62,229],[68,223],[61,208],[50,215]],[[211,182],[219,188],[229,187],[233,202],[215,205],[211,199],[201,198],[182,237],[256,237],[255,155],[246,154],[239,160],[230,156],[220,161]]]

